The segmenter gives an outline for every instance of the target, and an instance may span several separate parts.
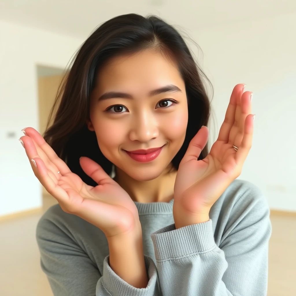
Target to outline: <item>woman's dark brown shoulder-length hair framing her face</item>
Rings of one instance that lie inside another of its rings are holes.
[[[208,124],[210,101],[202,77],[210,81],[194,61],[180,33],[155,15],[143,17],[131,13],[113,17],[96,28],[75,53],[59,86],[43,135],[70,170],[88,185],[97,183],[83,172],[79,164],[81,156],[91,158],[108,174],[112,170],[112,163],[99,149],[95,132],[89,131],[86,125],[96,75],[112,57],[143,49],[157,49],[164,57],[174,57],[185,82],[188,125],[184,143],[172,160],[173,168],[178,169],[190,140],[201,126]],[[211,83],[210,86],[213,89]],[[198,159],[207,154],[206,145]]]

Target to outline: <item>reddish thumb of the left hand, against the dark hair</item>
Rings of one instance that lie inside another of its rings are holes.
[[[102,169],[102,167],[89,157],[82,156],[79,163],[83,171],[99,185],[113,183],[113,179]]]

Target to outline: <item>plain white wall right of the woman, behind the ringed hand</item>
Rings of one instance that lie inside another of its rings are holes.
[[[203,69],[214,86],[215,139],[233,87],[246,83],[245,90],[254,93],[253,144],[239,179],[259,186],[271,208],[296,211],[296,14],[190,35],[204,53]]]

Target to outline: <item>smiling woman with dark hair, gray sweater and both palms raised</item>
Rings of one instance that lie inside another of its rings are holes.
[[[23,130],[33,172],[59,202],[36,231],[55,296],[266,295],[269,208],[235,180],[252,93],[234,87],[208,152],[201,74],[160,18],[114,17],[76,54],[44,138]]]

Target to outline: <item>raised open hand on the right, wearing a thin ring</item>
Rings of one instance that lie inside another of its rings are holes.
[[[189,143],[174,186],[176,228],[208,221],[212,205],[240,175],[252,146],[251,94],[244,92],[243,84],[234,87],[218,139],[207,157],[197,160],[208,140],[207,127],[200,128]]]

